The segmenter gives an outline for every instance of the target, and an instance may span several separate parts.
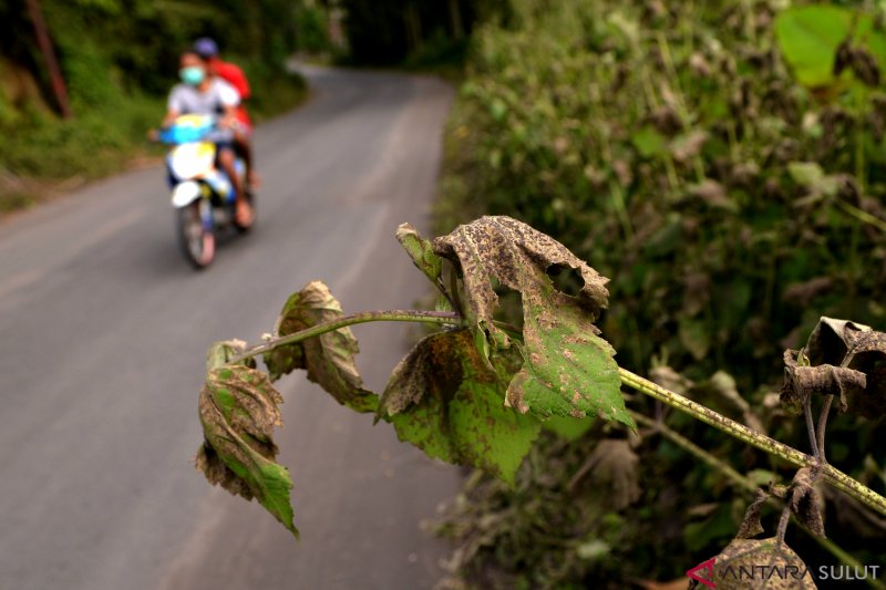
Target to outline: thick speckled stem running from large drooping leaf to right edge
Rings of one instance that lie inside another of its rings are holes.
[[[638,392],[649,395],[650,397],[655,397],[656,400],[684,412],[690,416],[700,420],[701,422],[704,422],[705,424],[709,424],[740,441],[755,446],[756,448],[764,451],[770,455],[781,457],[785,462],[796,467],[811,467],[815,464],[815,459],[805,453],[801,453],[800,451],[770,438],[764,434],[752,431],[743,424],[739,424],[733,420],[718,414],[717,412],[709,410],[703,405],[689,400],[688,397],[683,397],[678,393],[666,390],[664,387],[661,387],[649,380],[631,373],[627,369],[619,368],[618,371],[619,376],[621,377],[621,383],[625,385],[633,387]],[[823,467],[822,476],[835,488],[852,496],[865,506],[886,515],[886,498],[873,489],[861,484],[859,482],[856,482],[839,469],[834,468],[832,465],[825,465]]]

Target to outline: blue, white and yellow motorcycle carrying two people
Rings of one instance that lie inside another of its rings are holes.
[[[248,227],[235,222],[236,190],[225,170],[216,165],[216,145],[207,141],[217,130],[212,115],[182,115],[157,133],[161,143],[173,146],[166,156],[172,204],[176,210],[176,234],[185,258],[196,269],[215,258],[218,231]],[[235,168],[245,186],[245,165],[237,158]],[[246,198],[255,207],[254,196]]]

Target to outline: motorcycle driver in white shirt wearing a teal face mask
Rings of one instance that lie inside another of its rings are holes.
[[[218,165],[234,185],[237,203],[235,220],[241,227],[253,222],[253,209],[246,198],[243,179],[236,172],[234,154],[234,127],[240,96],[227,82],[208,75],[206,61],[195,52],[182,54],[178,75],[182,84],[169,92],[168,108],[163,126],[171,125],[179,115],[215,115],[218,128],[206,139],[216,144]]]

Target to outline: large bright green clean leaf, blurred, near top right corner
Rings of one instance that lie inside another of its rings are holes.
[[[837,46],[849,34],[853,12],[828,4],[792,7],[775,19],[775,37],[785,61],[804,86],[834,82]]]

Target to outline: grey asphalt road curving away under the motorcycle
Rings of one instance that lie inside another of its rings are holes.
[[[0,588],[399,590],[443,576],[446,547],[420,522],[454,497],[456,469],[301,375],[280,382],[278,433],[300,542],[193,467],[210,342],[258,341],[312,279],[346,311],[425,293],[393,234],[426,225],[451,90],[308,75],[311,102],[257,132],[255,231],[204,272],[177,251],[158,167],[0,222]],[[404,324],[354,333],[381,387]]]

